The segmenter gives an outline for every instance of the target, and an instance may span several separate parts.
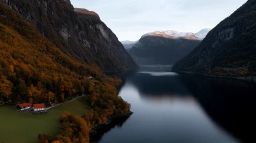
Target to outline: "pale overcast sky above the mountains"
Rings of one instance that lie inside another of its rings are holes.
[[[152,31],[196,33],[213,28],[247,0],[70,0],[100,19],[120,41],[139,40]]]

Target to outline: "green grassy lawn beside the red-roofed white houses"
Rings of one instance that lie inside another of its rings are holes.
[[[90,107],[83,100],[84,97],[64,103],[49,109],[47,114],[39,115],[17,111],[13,105],[0,107],[0,142],[35,143],[39,133],[56,136],[61,126],[58,119],[64,111],[75,115],[90,112]]]

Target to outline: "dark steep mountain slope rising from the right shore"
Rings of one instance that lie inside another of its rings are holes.
[[[256,75],[256,1],[249,0],[207,34],[173,71],[234,77]]]

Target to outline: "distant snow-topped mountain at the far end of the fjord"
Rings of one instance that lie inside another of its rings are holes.
[[[129,51],[140,66],[148,64],[174,64],[201,42],[193,33],[155,31],[141,36]]]

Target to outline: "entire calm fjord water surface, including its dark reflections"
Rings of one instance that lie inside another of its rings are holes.
[[[94,142],[255,142],[254,84],[156,70],[117,75],[134,114]]]

